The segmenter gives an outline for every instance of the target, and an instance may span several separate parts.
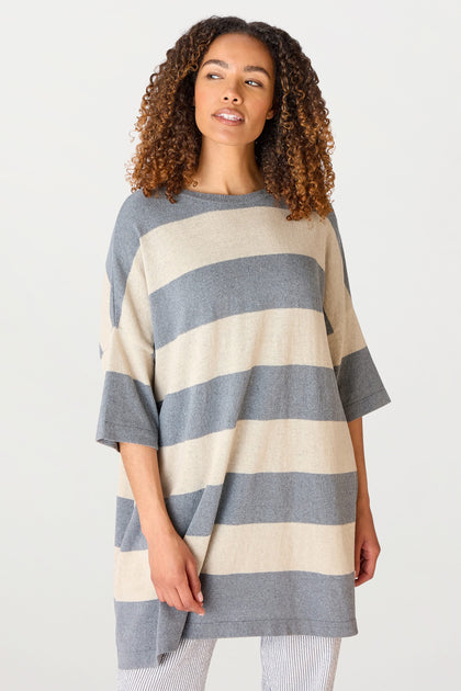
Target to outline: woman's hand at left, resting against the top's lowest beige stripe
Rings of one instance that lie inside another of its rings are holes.
[[[171,530],[157,533],[147,546],[150,579],[158,599],[177,610],[203,615],[196,562],[184,540]]]

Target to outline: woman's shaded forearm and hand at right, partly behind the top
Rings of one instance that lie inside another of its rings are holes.
[[[370,578],[373,578],[381,547],[378,542],[373,517],[370,509],[370,496],[368,492],[363,450],[362,418],[360,417],[356,418],[356,420],[351,420],[348,422],[348,426],[356,456],[358,476],[355,569],[356,586],[360,586],[367,580],[370,580]]]

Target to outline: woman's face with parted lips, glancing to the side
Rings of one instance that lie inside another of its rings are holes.
[[[273,115],[273,60],[263,43],[246,34],[217,36],[196,75],[196,126],[215,143],[255,141]]]

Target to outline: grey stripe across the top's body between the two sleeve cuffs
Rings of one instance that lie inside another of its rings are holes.
[[[344,420],[334,370],[257,365],[168,394],[160,404],[159,442],[168,446],[234,429],[238,420],[272,419]]]

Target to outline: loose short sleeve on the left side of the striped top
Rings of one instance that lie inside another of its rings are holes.
[[[121,441],[158,449],[153,321],[139,235],[126,201],[105,261],[99,352],[104,378],[97,441],[116,451]]]

